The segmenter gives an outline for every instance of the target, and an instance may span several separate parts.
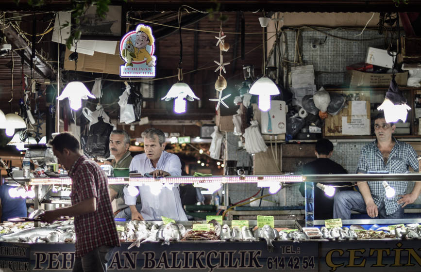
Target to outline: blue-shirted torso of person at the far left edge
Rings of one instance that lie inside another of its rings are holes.
[[[26,199],[20,196],[13,198],[9,195],[9,190],[15,188],[16,186],[12,186],[9,183],[4,183],[0,186],[1,222],[11,218],[28,216]]]

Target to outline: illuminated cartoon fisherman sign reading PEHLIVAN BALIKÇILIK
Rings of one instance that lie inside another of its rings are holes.
[[[156,57],[155,38],[149,26],[137,25],[135,31],[126,33],[120,41],[120,77],[154,77]]]

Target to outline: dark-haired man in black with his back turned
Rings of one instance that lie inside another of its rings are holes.
[[[348,172],[338,163],[331,160],[330,157],[333,154],[333,144],[327,139],[321,139],[316,142],[316,149],[314,151],[317,159],[304,164],[303,175],[314,175],[314,174],[348,174]],[[304,184],[300,184],[300,192],[305,197]],[[323,182],[324,185],[331,186],[343,186],[351,185],[350,182]],[[307,182],[307,186],[310,185]],[[333,218],[333,196],[327,196],[320,188],[313,184],[314,195],[314,219],[315,220],[326,220]],[[336,191],[351,190],[352,187],[337,187]],[[309,193],[309,192],[307,192]]]

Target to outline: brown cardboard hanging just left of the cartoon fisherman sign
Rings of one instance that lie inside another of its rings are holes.
[[[78,71],[94,72],[94,73],[105,73],[105,74],[120,74],[120,65],[124,62],[120,58],[118,51],[118,44],[114,55],[96,52],[90,56],[78,53]],[[75,62],[68,60],[68,56],[72,52],[66,48],[64,68],[65,70],[75,70]]]

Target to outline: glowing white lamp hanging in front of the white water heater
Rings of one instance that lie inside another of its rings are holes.
[[[251,95],[259,96],[258,106],[263,112],[270,110],[270,96],[280,94],[275,82],[266,76],[256,80],[256,82],[252,85],[252,88],[250,88],[249,93]]]

